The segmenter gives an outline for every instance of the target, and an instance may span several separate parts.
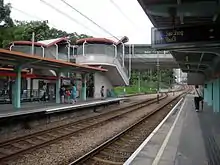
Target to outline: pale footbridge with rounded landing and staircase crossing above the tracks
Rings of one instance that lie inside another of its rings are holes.
[[[106,38],[84,38],[77,41],[76,63],[107,69],[113,85],[128,85],[131,70],[178,68],[168,51],[154,51],[150,45],[131,45]]]

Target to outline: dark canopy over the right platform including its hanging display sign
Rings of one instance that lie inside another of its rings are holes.
[[[184,72],[216,76],[220,62],[219,0],[138,0],[154,25],[151,44],[169,50]]]

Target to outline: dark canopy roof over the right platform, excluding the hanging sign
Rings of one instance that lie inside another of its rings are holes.
[[[211,32],[217,34],[219,31],[216,30],[220,24],[218,0],[138,0],[138,2],[154,27],[158,29],[172,30],[197,26],[194,31],[191,30],[191,35],[185,35],[186,32],[182,30],[184,34],[181,39],[184,37],[187,40],[196,37],[201,39],[208,35],[209,38],[203,44],[194,42],[185,47],[179,44],[172,49],[171,54],[184,72],[200,72],[207,77],[215,76],[220,70],[218,68],[220,40],[211,46],[208,40],[218,36],[211,35]],[[210,28],[204,32],[203,26],[206,25]],[[195,36],[195,33],[198,35]],[[164,48],[166,49],[166,46]]]

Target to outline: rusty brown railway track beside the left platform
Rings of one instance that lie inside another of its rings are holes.
[[[161,95],[160,100],[167,98],[167,95]],[[125,115],[144,106],[157,102],[156,98],[148,99],[121,109],[116,109],[94,117],[86,118],[77,122],[68,123],[51,129],[39,131],[33,134],[10,139],[0,142],[0,164],[12,157],[23,153],[33,151],[70,137],[83,130],[96,127],[100,124],[110,122],[119,116]]]

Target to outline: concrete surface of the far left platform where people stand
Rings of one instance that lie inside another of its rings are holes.
[[[96,104],[107,104],[110,102],[120,100],[130,100],[132,102],[139,102],[150,98],[155,98],[155,94],[133,96],[129,98],[107,98],[104,100],[88,98],[86,101],[77,101],[76,104],[56,104],[54,102],[26,102],[21,104],[20,109],[14,109],[11,104],[0,105],[0,118],[32,114],[32,113],[55,113],[58,111],[72,110],[77,108],[88,108]]]

